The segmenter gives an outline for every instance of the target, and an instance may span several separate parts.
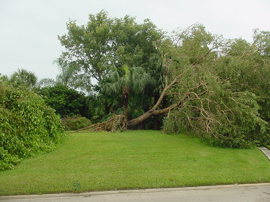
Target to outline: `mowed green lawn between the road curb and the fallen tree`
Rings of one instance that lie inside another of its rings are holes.
[[[256,147],[217,148],[158,131],[76,133],[1,171],[0,195],[260,182],[270,182],[270,162]]]

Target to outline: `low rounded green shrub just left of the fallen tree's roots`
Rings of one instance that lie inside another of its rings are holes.
[[[65,130],[79,130],[91,126],[92,123],[85,117],[67,117],[62,119]]]

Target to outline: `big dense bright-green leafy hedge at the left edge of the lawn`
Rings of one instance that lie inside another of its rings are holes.
[[[41,96],[0,82],[0,170],[21,158],[52,151],[65,134]]]

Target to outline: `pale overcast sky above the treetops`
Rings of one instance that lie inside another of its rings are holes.
[[[214,34],[251,42],[254,28],[270,30],[269,0],[0,0],[0,73],[23,68],[38,79],[55,78],[53,60],[64,50],[57,35],[66,33],[69,18],[86,24],[89,13],[102,9],[138,23],[149,18],[168,32],[199,22]]]

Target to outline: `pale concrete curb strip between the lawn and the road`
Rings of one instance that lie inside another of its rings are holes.
[[[237,188],[237,187],[258,187],[258,186],[270,186],[270,183],[228,184],[228,185],[200,186],[200,187],[136,189],[136,190],[117,190],[117,191],[93,191],[93,192],[85,192],[85,193],[0,196],[0,201],[1,200],[14,200],[14,199],[30,199],[30,198],[43,198],[44,199],[44,198],[73,197],[73,196],[92,196],[92,195],[103,195],[103,194],[149,193],[149,192],[158,192],[158,191],[183,191],[183,190],[222,189],[222,188]]]

